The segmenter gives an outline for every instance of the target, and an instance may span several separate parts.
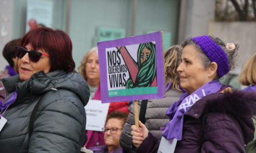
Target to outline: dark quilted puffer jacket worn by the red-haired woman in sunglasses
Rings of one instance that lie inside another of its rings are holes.
[[[6,94],[18,96],[3,115],[8,121],[0,132],[0,152],[80,152],[86,142],[86,112],[90,93],[79,74],[54,71],[35,73],[20,81],[19,75],[2,79]],[[38,110],[31,137],[30,115]]]

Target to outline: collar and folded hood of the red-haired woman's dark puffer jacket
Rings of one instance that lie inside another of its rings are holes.
[[[23,101],[31,96],[39,96],[49,90],[66,89],[77,94],[84,105],[87,104],[90,93],[84,78],[76,72],[66,73],[57,70],[45,74],[44,71],[37,72],[26,81],[22,81],[19,75],[2,79],[5,85],[6,96],[15,90],[18,93],[17,100]],[[18,102],[18,101],[17,101]]]

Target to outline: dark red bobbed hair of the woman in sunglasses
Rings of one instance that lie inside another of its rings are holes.
[[[42,49],[49,54],[51,71],[73,72],[72,42],[65,32],[40,27],[27,32],[20,43],[22,47],[30,44],[33,50]]]

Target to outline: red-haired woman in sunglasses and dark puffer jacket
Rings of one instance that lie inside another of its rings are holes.
[[[19,75],[2,79],[0,152],[80,152],[90,93],[74,72],[69,36],[36,28],[24,35],[16,56]]]

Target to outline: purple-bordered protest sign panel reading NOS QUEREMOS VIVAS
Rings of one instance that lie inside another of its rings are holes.
[[[102,103],[164,97],[162,32],[98,43]]]

